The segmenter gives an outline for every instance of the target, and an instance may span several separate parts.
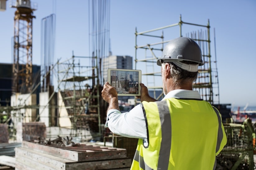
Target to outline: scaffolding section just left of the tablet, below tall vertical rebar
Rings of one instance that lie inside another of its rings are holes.
[[[103,87],[99,84],[98,65],[89,66],[94,60],[98,63],[97,57],[73,55],[64,62],[58,62],[58,91],[71,117],[74,132],[87,129],[101,137],[103,130],[101,122],[105,122],[103,112],[106,110],[106,104],[103,104],[104,101],[100,98]]]

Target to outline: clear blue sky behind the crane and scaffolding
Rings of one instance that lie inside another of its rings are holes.
[[[9,4],[7,1],[7,4]],[[89,55],[88,1],[34,0],[38,9],[33,20],[33,64],[40,65],[41,19],[56,13],[56,59]],[[135,56],[138,32],[160,28],[182,20],[206,25],[210,21],[212,49],[216,32],[216,56],[220,103],[256,105],[256,1],[255,0],[110,0],[110,39],[114,55]],[[12,63],[11,37],[14,8],[0,12],[0,62]],[[197,30],[190,30],[197,31]],[[183,33],[184,35],[184,33]],[[168,38],[168,35],[165,35]],[[177,32],[175,35],[179,36]],[[137,68],[138,69],[138,68]],[[159,67],[160,70],[160,67]],[[143,70],[142,70],[143,71]]]

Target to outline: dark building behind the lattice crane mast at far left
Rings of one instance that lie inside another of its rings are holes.
[[[40,82],[40,68],[41,66],[32,66],[33,84],[36,86]],[[12,64],[0,63],[0,106],[10,106],[12,95]],[[34,91],[38,94],[37,103],[39,103],[40,86]]]

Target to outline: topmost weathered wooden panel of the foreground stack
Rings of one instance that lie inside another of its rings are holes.
[[[93,151],[91,148],[83,151],[70,151],[64,149],[65,147],[56,148],[56,147],[50,147],[50,146],[45,146],[33,142],[28,142],[28,141],[23,141],[22,142],[22,147],[24,148],[29,148],[34,151],[38,151],[41,153],[47,153],[51,154],[60,158],[64,159],[69,159],[72,161],[76,162],[81,162],[81,161],[93,161],[93,160],[106,160],[106,159],[120,159],[120,158],[126,158],[126,149],[121,149],[121,148],[115,148],[115,150],[112,150],[112,147],[108,147],[109,150],[104,148],[104,150],[101,151]],[[76,148],[75,146],[74,148]],[[95,146],[99,147],[99,146]],[[69,148],[69,147],[68,147]]]

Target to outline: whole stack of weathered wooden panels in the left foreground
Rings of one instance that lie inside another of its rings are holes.
[[[15,169],[130,169],[126,149],[78,144],[74,146],[42,145],[23,141],[15,149]]]

